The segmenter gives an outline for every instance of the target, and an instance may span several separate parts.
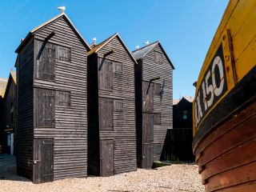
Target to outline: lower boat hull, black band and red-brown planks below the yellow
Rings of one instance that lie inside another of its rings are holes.
[[[256,66],[207,118],[193,143],[206,191],[255,191]]]

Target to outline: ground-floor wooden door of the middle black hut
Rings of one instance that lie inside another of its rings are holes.
[[[101,173],[100,176],[114,175],[114,140],[100,141]]]

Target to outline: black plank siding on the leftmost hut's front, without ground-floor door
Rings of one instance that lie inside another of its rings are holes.
[[[19,102],[19,108],[26,105],[32,110],[31,145],[33,146],[33,139],[34,145],[37,139],[54,141],[53,180],[87,176],[86,49],[88,47],[69,21],[66,14],[61,14],[54,21],[34,32],[31,37],[34,39],[31,43],[33,54],[29,63],[32,70],[28,72],[32,76],[30,80],[32,93],[26,97],[30,102],[25,102],[26,104]],[[48,37],[50,39],[47,39]],[[24,48],[19,49],[26,53]],[[24,74],[23,69],[20,70],[20,74]],[[19,79],[19,81],[23,83],[25,80]],[[22,89],[19,87],[20,91]],[[19,128],[22,130],[23,127],[19,125]],[[22,138],[20,142],[23,142]],[[37,151],[34,151],[34,160],[37,158],[36,153]],[[36,179],[38,177],[35,173],[36,167],[34,166],[33,180],[38,182],[40,179]],[[31,172],[27,177],[31,179]],[[46,179],[45,182],[49,182],[48,180]]]

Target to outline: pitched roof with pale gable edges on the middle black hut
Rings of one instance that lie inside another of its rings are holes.
[[[134,58],[133,54],[130,53],[130,50],[128,50],[126,44],[122,41],[122,38],[120,37],[120,35],[118,33],[113,34],[112,36],[110,36],[110,38],[106,38],[106,40],[104,40],[103,42],[99,43],[98,45],[94,46],[89,52],[88,52],[88,56],[90,54],[94,54],[97,53],[99,50],[102,49],[102,47],[106,46],[107,43],[111,42],[112,39],[114,39],[115,37],[119,38],[120,42],[122,43],[122,46],[124,46],[124,48],[126,49],[126,51],[128,52],[128,54],[130,55],[130,58],[137,64],[136,59]]]

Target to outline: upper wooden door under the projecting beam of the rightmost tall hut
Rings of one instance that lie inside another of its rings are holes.
[[[154,110],[154,86],[152,82],[142,82],[143,86],[143,112],[152,112]]]

